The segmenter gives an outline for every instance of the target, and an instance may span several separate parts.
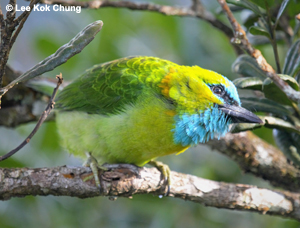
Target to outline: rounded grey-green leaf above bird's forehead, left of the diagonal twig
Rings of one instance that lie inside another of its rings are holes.
[[[256,60],[248,55],[240,55],[232,64],[232,71],[243,76],[259,77],[265,79],[265,73],[260,69]]]

